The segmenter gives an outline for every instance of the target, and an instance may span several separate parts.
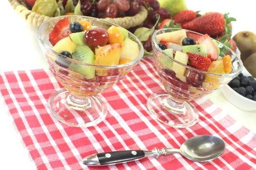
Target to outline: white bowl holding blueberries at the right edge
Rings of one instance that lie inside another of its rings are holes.
[[[243,68],[242,73],[244,76],[251,76],[251,74],[247,71],[246,68]],[[238,94],[229,85],[223,86],[221,88],[221,91],[225,98],[239,109],[242,109],[244,111],[256,110],[256,101],[247,99],[246,97]]]

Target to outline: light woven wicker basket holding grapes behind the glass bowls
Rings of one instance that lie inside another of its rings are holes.
[[[28,23],[31,23],[35,27],[39,27],[43,21],[50,18],[29,10],[23,2],[20,2],[22,0],[8,1],[21,17],[23,17]],[[145,7],[141,6],[138,14],[133,17],[104,18],[103,20],[115,23],[123,28],[128,29],[140,25],[146,19],[146,17],[147,10]]]

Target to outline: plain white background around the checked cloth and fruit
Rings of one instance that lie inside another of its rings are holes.
[[[235,17],[234,35],[240,31],[256,33],[255,0],[186,0],[189,9],[204,12],[230,13]],[[0,71],[47,68],[39,49],[37,28],[26,23],[7,0],[0,0]],[[244,112],[227,102],[220,91],[209,95],[222,110],[236,121],[256,132],[256,113]],[[1,102],[1,100],[0,100]],[[12,118],[0,103],[0,169],[36,169],[23,148]]]

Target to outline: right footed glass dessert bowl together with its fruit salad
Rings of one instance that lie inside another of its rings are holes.
[[[190,101],[228,84],[242,70],[234,51],[207,34],[167,28],[152,36],[154,63],[166,92],[152,94],[147,107],[159,121],[172,127],[196,124]]]

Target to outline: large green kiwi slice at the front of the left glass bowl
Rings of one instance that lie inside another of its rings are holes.
[[[83,63],[93,64],[95,60],[94,52],[86,45],[80,45],[72,54],[73,59]],[[86,79],[93,79],[95,68],[90,66],[82,66],[76,63],[71,63],[69,69],[82,74]]]

